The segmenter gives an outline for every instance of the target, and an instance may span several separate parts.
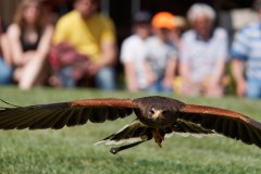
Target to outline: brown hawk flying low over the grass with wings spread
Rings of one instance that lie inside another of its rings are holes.
[[[161,147],[172,133],[221,134],[261,148],[261,123],[234,111],[186,104],[159,96],[138,99],[87,99],[70,102],[0,109],[1,129],[60,129],[115,121],[136,114],[136,119],[98,144],[117,145],[112,153],[154,139]],[[123,144],[122,146],[119,146]]]

